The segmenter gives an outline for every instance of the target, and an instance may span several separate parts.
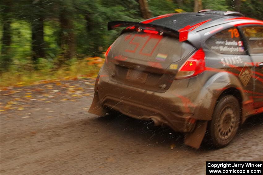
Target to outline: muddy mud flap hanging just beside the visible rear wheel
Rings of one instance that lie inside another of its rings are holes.
[[[205,136],[208,121],[199,121],[193,132],[184,136],[184,144],[193,147],[195,149],[200,148],[202,140]]]

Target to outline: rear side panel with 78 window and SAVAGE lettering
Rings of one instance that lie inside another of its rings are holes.
[[[222,30],[205,41],[206,67],[221,69],[240,80],[241,90],[253,95],[253,65],[236,27]]]

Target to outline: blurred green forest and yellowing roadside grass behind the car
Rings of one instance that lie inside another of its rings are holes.
[[[107,31],[107,22],[202,9],[263,19],[256,0],[0,1],[0,86],[95,77],[121,30]]]

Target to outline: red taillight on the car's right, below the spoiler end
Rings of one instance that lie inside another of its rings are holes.
[[[194,77],[205,71],[205,52],[202,48],[198,49],[194,55],[186,60],[180,67],[175,79]]]

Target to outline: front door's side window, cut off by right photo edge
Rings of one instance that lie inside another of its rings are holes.
[[[263,26],[243,27],[250,53],[263,53]]]

